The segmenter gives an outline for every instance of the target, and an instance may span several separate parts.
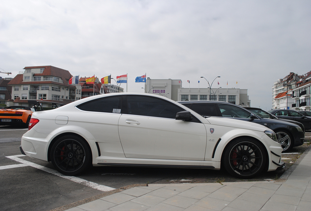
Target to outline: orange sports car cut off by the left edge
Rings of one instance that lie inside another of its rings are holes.
[[[0,109],[0,126],[28,127],[32,111],[28,106],[9,106]]]

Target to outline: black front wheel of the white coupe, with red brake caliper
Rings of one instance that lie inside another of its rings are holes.
[[[267,160],[265,148],[259,141],[239,138],[230,142],[223,151],[223,167],[238,178],[251,178],[263,171]]]

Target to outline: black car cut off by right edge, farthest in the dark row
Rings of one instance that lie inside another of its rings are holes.
[[[304,116],[295,110],[276,109],[269,110],[269,113],[281,119],[289,119],[302,123],[306,130],[311,130],[311,117]]]

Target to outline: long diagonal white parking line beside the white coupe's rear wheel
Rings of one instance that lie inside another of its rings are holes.
[[[6,158],[9,158],[9,159],[12,159],[14,161],[20,162],[24,166],[30,166],[30,167],[33,167],[33,168],[36,168],[36,169],[40,169],[40,170],[43,170],[45,172],[48,172],[48,173],[54,174],[56,176],[68,179],[68,180],[70,180],[72,182],[76,182],[76,183],[79,183],[81,185],[88,186],[88,187],[93,188],[93,189],[97,189],[97,190],[101,190],[101,191],[105,191],[105,192],[111,191],[111,190],[115,190],[114,188],[111,188],[111,187],[108,187],[108,186],[99,185],[97,183],[93,183],[93,182],[90,182],[88,180],[81,179],[79,177],[65,176],[65,175],[61,174],[60,172],[58,172],[57,170],[49,169],[49,168],[40,166],[38,164],[29,162],[29,161],[25,161],[25,160],[23,160],[23,159],[21,159],[19,157],[21,157],[21,155],[7,156]],[[16,166],[16,165],[11,165],[11,166]]]

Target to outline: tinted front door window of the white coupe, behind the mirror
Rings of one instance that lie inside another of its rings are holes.
[[[127,96],[128,114],[175,119],[181,107],[168,101],[149,96]]]

